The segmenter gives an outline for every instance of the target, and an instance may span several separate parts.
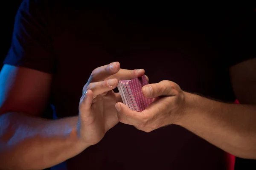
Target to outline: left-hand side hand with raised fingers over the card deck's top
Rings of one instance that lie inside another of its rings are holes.
[[[134,79],[145,71],[120,69],[119,62],[96,68],[91,73],[79,104],[78,134],[89,145],[98,143],[105,133],[119,121],[116,102],[122,101],[119,93],[114,93],[120,79]]]

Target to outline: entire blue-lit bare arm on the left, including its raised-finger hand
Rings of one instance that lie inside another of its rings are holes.
[[[4,65],[0,74],[0,169],[38,170],[59,164],[98,143],[118,121],[112,90],[119,79],[145,71],[120,69],[119,62],[96,68],[82,91],[79,115],[40,118],[47,104],[52,75]],[[38,97],[40,96],[40,97]]]

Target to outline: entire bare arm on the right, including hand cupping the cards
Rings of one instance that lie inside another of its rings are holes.
[[[241,158],[256,159],[256,59],[230,68],[230,78],[240,105],[217,102],[182,91],[168,80],[142,88],[154,102],[142,112],[117,103],[120,122],[151,132],[176,124],[215,146]]]

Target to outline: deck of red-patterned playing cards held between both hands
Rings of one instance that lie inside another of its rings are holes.
[[[148,81],[143,77],[138,77],[132,80],[120,80],[117,88],[122,97],[122,101],[131,110],[141,112],[153,101],[153,99],[147,99],[143,96],[141,91],[144,85],[147,85]]]

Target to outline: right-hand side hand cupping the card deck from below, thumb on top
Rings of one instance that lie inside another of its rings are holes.
[[[142,88],[153,102],[142,112],[132,111],[123,103],[116,103],[120,122],[151,132],[159,127],[179,122],[187,111],[185,92],[175,82],[161,81]]]

